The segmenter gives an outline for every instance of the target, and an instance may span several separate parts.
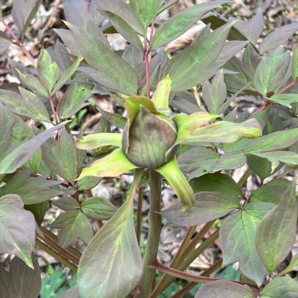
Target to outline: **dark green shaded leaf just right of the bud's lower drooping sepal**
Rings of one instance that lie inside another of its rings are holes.
[[[215,191],[228,194],[231,199],[243,196],[241,188],[228,175],[222,173],[206,174],[189,181],[194,193]]]

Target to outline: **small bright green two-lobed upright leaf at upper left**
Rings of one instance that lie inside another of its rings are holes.
[[[49,94],[59,78],[59,68],[56,62],[52,63],[52,58],[47,50],[43,49],[37,60],[37,72],[43,85]]]

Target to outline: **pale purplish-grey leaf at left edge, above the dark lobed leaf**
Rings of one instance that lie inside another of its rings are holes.
[[[18,195],[0,197],[0,252],[14,254],[33,268],[31,254],[35,243],[35,221],[33,214],[23,207]]]

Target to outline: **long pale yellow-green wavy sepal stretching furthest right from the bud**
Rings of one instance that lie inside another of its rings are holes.
[[[257,138],[261,134],[261,127],[256,119],[249,119],[241,123],[220,121],[196,129],[183,143],[233,143],[243,138]]]

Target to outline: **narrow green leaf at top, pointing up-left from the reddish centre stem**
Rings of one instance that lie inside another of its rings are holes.
[[[138,48],[141,51],[144,51],[143,44],[138,37],[138,34],[135,30],[119,15],[104,9],[98,9],[99,12],[105,16],[114,28],[132,45]]]

